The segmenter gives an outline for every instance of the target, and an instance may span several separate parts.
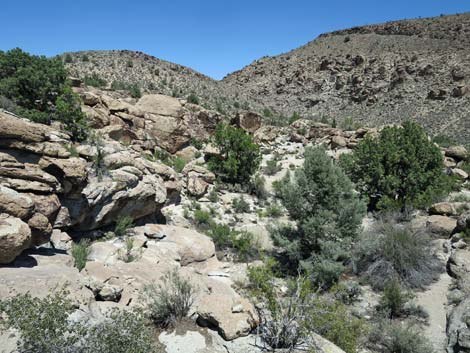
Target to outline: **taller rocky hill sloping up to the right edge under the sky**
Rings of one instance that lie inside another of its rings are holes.
[[[223,82],[283,114],[372,126],[411,118],[468,140],[469,38],[468,13],[356,27],[257,60]]]

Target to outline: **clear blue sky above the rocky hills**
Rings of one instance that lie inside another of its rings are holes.
[[[1,0],[0,50],[139,50],[220,79],[323,32],[470,11],[469,0]]]

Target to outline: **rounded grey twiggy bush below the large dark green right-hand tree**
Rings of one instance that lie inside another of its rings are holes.
[[[356,271],[376,289],[393,279],[423,288],[442,270],[426,234],[386,218],[363,234],[353,258]]]

